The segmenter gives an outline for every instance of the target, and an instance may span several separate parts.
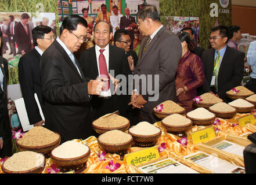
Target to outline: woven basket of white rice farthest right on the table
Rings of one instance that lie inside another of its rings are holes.
[[[229,102],[229,105],[233,106],[239,113],[250,113],[255,109],[255,105],[241,98]]]

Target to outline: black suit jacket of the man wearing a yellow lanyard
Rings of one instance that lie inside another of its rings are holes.
[[[203,92],[211,91],[210,84],[214,71],[214,49],[208,49],[203,52],[201,61],[204,65],[205,81],[201,87]],[[244,73],[243,54],[231,47],[227,47],[222,58],[218,73],[218,95],[223,101],[228,102],[226,91],[236,86],[240,86]],[[201,92],[201,93],[203,93]]]

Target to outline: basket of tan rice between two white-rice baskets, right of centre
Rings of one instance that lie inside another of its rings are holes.
[[[224,102],[210,106],[209,110],[214,113],[216,117],[222,119],[232,119],[232,117],[236,115],[236,109]]]

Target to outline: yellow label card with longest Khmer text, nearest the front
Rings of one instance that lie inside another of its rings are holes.
[[[144,164],[159,158],[159,152],[157,146],[150,147],[148,149],[135,151],[133,153],[125,154],[124,161],[127,162],[127,165],[131,164],[134,166]]]

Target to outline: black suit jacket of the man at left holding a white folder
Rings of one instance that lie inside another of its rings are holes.
[[[34,93],[44,112],[44,100],[42,97],[42,84],[40,76],[40,58],[41,55],[36,49],[24,54],[19,61],[19,81],[21,92],[24,98],[28,120],[30,124],[35,124],[42,120],[40,116]]]

